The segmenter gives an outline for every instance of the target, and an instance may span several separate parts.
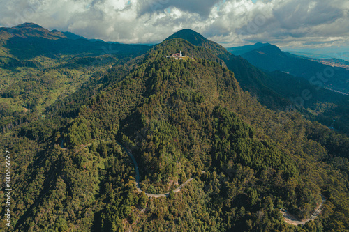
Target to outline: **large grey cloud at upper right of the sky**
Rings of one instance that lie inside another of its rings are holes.
[[[243,35],[267,33],[269,36],[300,38],[314,26],[328,25],[343,17],[343,10],[322,1],[285,1],[274,6],[272,15],[256,8],[249,22],[237,29]]]

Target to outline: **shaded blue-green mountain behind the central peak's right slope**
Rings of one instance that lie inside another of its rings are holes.
[[[320,63],[282,52],[275,45],[258,43],[230,49],[233,53],[235,50],[244,50],[241,56],[265,70],[269,76],[263,78],[262,83],[283,98],[291,100],[292,107],[301,111],[299,107],[304,107],[306,111],[302,112],[309,118],[348,134],[348,70],[325,65],[325,60]],[[244,82],[240,84],[243,86]]]

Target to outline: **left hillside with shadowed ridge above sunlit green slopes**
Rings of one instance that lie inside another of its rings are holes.
[[[105,72],[147,52],[144,45],[72,40],[36,24],[0,29],[0,131],[45,117],[57,100]]]

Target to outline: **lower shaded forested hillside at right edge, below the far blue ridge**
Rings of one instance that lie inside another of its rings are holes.
[[[302,77],[285,72],[274,71],[268,75],[272,78],[265,85],[284,98],[289,98],[298,107],[304,107],[313,121],[327,125],[332,130],[349,133],[349,95],[318,88]]]

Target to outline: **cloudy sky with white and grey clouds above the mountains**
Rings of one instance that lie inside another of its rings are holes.
[[[125,43],[193,29],[225,47],[349,47],[348,0],[0,0],[0,26],[47,29]]]

